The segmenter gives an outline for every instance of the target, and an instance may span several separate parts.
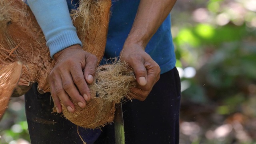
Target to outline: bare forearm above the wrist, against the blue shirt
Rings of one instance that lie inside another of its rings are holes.
[[[172,10],[176,0],[140,0],[140,5],[126,42],[142,44],[144,48]]]

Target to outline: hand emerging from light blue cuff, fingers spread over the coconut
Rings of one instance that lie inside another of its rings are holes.
[[[62,112],[60,101],[69,112],[75,111],[73,102],[84,108],[86,101],[90,100],[87,83],[93,82],[96,56],[76,44],[54,54],[54,60],[56,63],[48,76],[48,82],[57,112]]]

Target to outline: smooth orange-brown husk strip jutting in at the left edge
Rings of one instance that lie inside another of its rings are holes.
[[[0,119],[8,106],[12,92],[22,73],[22,63],[14,62],[0,70]]]

